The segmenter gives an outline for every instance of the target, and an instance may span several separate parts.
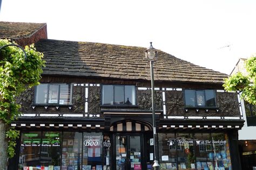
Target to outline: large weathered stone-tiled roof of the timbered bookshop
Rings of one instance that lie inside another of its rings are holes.
[[[43,75],[150,80],[146,48],[50,39],[38,41],[36,48],[46,60]],[[223,83],[227,76],[163,51],[154,62],[156,81]]]

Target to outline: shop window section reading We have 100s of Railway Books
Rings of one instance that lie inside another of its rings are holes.
[[[22,133],[18,168],[60,169],[61,138],[61,132]]]

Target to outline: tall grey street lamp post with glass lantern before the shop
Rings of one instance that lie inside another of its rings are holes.
[[[147,61],[150,61],[150,75],[151,75],[151,100],[152,100],[152,119],[153,119],[153,145],[154,145],[154,164],[153,167],[158,169],[159,164],[157,160],[157,130],[156,130],[156,114],[154,110],[154,70],[153,70],[153,62],[157,61],[158,50],[153,48],[152,42],[150,42],[150,47],[145,51]]]

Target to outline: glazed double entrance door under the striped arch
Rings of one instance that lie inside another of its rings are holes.
[[[116,169],[142,169],[142,136],[132,134],[114,135],[114,141]]]

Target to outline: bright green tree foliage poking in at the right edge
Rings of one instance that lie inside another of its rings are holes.
[[[226,91],[241,91],[241,97],[248,103],[256,105],[256,54],[246,61],[248,75],[237,73],[224,80]]]

